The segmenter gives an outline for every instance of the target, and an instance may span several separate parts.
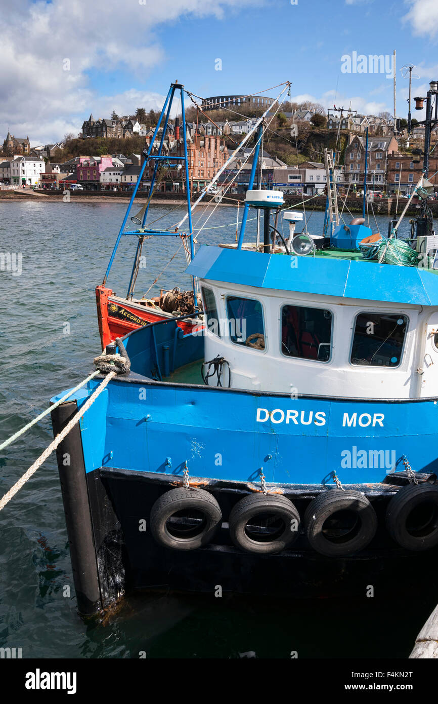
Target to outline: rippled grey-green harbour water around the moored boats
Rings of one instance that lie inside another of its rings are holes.
[[[100,351],[94,287],[102,280],[125,207],[0,203],[0,252],[21,253],[20,275],[0,272],[0,441],[92,369]],[[151,206],[150,221],[174,225],[184,210],[170,208],[166,215],[169,206]],[[201,217],[202,210],[194,215],[195,228],[211,217],[199,244],[235,240],[236,225],[229,223],[236,222],[236,208],[213,212],[208,206]],[[385,234],[387,220],[377,220]],[[313,213],[309,231],[321,232],[322,225],[323,213]],[[255,220],[247,233],[255,239]],[[180,244],[179,237],[146,240],[137,294],[163,270],[149,296],[160,287],[190,286]],[[126,293],[135,246],[136,238],[127,237],[117,252],[108,282],[117,294]],[[1,453],[0,496],[51,439],[45,419]],[[436,603],[424,584],[409,599],[368,598],[366,585],[361,599],[275,603],[150,593],[127,599],[101,622],[84,624],[76,614],[53,456],[1,511],[0,545],[0,648],[22,648],[22,658],[239,658],[252,653],[259,658],[290,658],[291,653],[298,658],[406,658]],[[387,631],[391,652],[383,638]]]

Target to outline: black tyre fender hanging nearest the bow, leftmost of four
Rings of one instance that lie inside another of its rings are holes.
[[[157,498],[150,511],[150,532],[165,548],[196,550],[219,529],[219,503],[204,489],[171,489]]]

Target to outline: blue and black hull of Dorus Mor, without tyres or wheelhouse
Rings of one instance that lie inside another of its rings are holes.
[[[438,548],[408,551],[385,525],[389,501],[409,482],[402,457],[420,484],[436,479],[436,399],[290,398],[165,382],[163,360],[171,372],[176,358],[193,362],[202,338],[170,321],[125,341],[131,372],[112,379],[58,449],[80,612],[141,589],[363,596],[368,585],[380,593],[438,586]],[[53,412],[55,432],[98,384]],[[189,486],[221,512],[214,537],[193,551],[169,549],[150,530],[154,503],[183,486],[185,468]],[[289,498],[302,520],[290,548],[271,555],[241,551],[228,526],[238,501],[262,495],[261,473],[268,494]],[[309,544],[304,515],[335,490],[334,474],[369,500],[377,531],[363,550],[328,557]]]

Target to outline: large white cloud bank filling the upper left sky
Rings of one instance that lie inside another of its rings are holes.
[[[126,114],[139,106],[161,107],[164,96],[133,87],[136,77],[144,80],[165,62],[165,48],[154,33],[157,28],[189,14],[229,21],[233,8],[254,4],[255,0],[144,4],[13,0],[0,15],[0,140],[9,128],[16,137],[29,134],[31,144],[44,144],[61,139],[65,132],[77,133],[90,111],[97,118],[109,117],[112,108]],[[63,69],[65,59],[70,70]],[[90,87],[87,71],[101,71],[107,79],[120,69],[132,75],[126,91],[101,96]]]

